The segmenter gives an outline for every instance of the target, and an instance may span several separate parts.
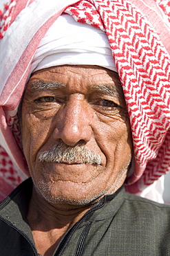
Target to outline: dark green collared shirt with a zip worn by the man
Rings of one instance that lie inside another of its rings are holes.
[[[31,193],[28,179],[0,205],[1,256],[38,255],[26,219]],[[170,255],[170,206],[121,188],[94,205],[65,234],[54,255]]]

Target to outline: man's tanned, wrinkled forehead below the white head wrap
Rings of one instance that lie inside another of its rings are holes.
[[[72,75],[71,78],[70,73]],[[74,80],[74,75],[77,80]],[[28,84],[31,89],[36,90],[67,89],[67,85],[70,83],[75,86],[79,77],[81,77],[81,84],[85,84],[90,91],[112,94],[117,97],[123,96],[118,73],[100,66],[63,65],[46,68],[33,73]]]

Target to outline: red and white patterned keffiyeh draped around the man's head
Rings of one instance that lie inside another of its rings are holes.
[[[29,176],[17,109],[36,48],[62,12],[108,37],[134,141],[127,191],[170,170],[170,1],[11,0],[0,11],[0,199]]]

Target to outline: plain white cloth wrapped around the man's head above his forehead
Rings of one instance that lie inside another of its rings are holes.
[[[30,74],[64,64],[98,65],[117,72],[107,35],[67,14],[61,15],[41,40]]]

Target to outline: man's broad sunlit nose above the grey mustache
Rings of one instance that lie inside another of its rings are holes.
[[[54,131],[55,139],[61,138],[67,145],[87,143],[92,136],[92,110],[82,98],[72,95],[60,111]]]

